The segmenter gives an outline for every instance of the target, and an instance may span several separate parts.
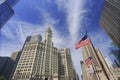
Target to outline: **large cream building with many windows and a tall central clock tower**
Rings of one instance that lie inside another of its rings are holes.
[[[12,80],[75,80],[70,49],[53,46],[52,31],[28,36]]]

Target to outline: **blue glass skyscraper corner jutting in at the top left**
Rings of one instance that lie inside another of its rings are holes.
[[[12,7],[18,1],[19,0],[3,0],[3,2],[0,3],[0,29],[13,16],[14,11]]]

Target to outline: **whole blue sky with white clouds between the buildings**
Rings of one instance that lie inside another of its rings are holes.
[[[15,15],[0,30],[0,55],[10,56],[22,48],[26,36],[43,36],[50,26],[54,46],[71,48],[80,75],[81,49],[75,50],[74,45],[86,30],[95,47],[108,54],[111,40],[99,25],[103,5],[104,0],[21,0],[13,7]]]

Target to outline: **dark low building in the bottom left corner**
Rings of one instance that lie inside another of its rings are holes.
[[[4,76],[5,80],[9,80],[14,64],[14,60],[10,57],[0,57],[0,76]]]

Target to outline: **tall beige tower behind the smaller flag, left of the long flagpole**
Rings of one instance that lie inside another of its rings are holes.
[[[82,55],[83,55],[84,61],[89,57],[92,57],[92,60],[93,60],[91,65],[87,65],[86,63],[82,62],[82,68],[84,68],[83,77],[86,78],[85,80],[89,80],[89,79],[90,80],[106,80],[107,79],[105,72],[103,70],[103,67],[100,63],[100,60],[101,60],[101,55],[99,54],[100,52],[99,53],[97,52],[98,55],[96,54],[96,52],[97,50],[94,49],[94,46],[92,45],[92,43],[89,43],[82,47]]]

